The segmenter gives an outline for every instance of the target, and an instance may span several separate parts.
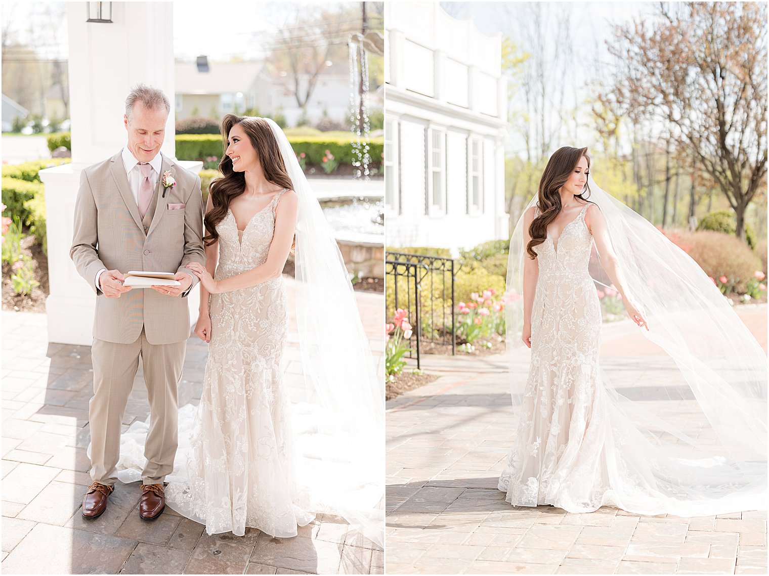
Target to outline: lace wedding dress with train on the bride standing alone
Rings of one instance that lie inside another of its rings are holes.
[[[552,504],[570,512],[603,505],[681,516],[751,509],[748,494],[760,487],[737,478],[747,471],[758,477],[765,464],[703,458],[677,444],[674,431],[672,442],[661,444],[634,425],[618,395],[602,384],[601,306],[588,272],[592,235],[584,221],[590,206],[560,238],[548,234],[534,247],[531,365],[499,490],[516,506]]]

